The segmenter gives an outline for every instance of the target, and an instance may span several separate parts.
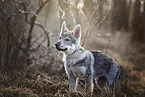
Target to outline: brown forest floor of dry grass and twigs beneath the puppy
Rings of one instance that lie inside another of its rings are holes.
[[[81,91],[71,93],[64,70],[48,76],[33,67],[28,71],[0,72],[0,97],[145,97],[145,66],[118,62],[121,91],[106,93],[95,88],[90,95]]]

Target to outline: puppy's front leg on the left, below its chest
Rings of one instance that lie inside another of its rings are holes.
[[[77,78],[73,75],[73,73],[69,72],[69,90],[75,91],[77,88]]]

